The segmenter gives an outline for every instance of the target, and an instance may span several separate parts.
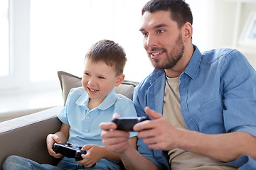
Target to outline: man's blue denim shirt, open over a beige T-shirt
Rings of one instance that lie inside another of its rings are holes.
[[[256,72],[238,50],[195,51],[179,77],[181,113],[188,127],[205,134],[247,132],[256,137]],[[134,89],[138,116],[145,106],[163,112],[164,70],[154,70]],[[191,141],[193,142],[193,141]],[[159,166],[169,169],[165,152],[151,150],[138,140],[138,150]],[[230,162],[240,169],[256,169],[256,161],[243,156]]]

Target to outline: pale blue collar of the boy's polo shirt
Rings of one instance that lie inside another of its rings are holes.
[[[117,94],[114,92],[114,89],[110,91],[110,94],[107,95],[107,97],[100,103],[100,106],[97,106],[100,110],[105,110],[107,108],[110,108],[114,104],[114,102],[117,101]],[[87,107],[89,102],[89,96],[85,92],[83,93],[78,100],[75,102],[78,106]]]

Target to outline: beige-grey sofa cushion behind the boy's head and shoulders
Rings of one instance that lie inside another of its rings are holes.
[[[61,90],[63,92],[63,101],[65,106],[65,102],[67,100],[70,89],[82,86],[82,78],[63,71],[58,72],[58,77],[60,80]],[[117,94],[122,94],[127,96],[127,98],[132,99],[134,87],[137,86],[137,84],[138,82],[135,81],[124,80],[118,87],[114,87],[114,91]]]

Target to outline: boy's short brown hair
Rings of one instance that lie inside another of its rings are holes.
[[[114,67],[117,76],[124,72],[124,65],[127,62],[124,48],[112,40],[96,42],[88,50],[85,59],[91,62],[105,62],[108,66]]]

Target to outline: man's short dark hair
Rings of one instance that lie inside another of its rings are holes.
[[[151,0],[142,8],[143,14],[149,11],[170,11],[171,19],[176,21],[178,28],[181,28],[186,22],[193,24],[191,8],[184,0]]]

